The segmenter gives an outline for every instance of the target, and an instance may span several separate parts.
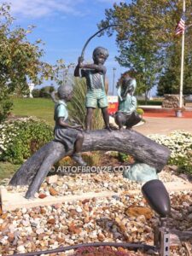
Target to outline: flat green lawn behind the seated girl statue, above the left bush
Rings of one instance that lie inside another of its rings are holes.
[[[49,125],[54,125],[54,102],[44,98],[14,98],[11,111],[17,116],[36,116],[44,119]]]

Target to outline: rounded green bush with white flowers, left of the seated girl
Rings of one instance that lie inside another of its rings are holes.
[[[53,138],[51,126],[34,118],[5,121],[0,125],[0,160],[20,164]]]

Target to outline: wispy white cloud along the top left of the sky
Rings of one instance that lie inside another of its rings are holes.
[[[12,13],[22,17],[40,18],[60,12],[66,15],[82,15],[78,5],[84,0],[10,0]],[[0,0],[3,3],[4,0]]]

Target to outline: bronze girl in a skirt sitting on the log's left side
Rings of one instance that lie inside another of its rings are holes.
[[[73,96],[73,87],[71,85],[61,85],[58,88],[59,102],[55,103],[55,141],[60,142],[66,148],[66,151],[73,150],[72,158],[80,166],[86,166],[80,152],[84,142],[84,135],[81,125],[70,125],[68,123],[67,104]]]

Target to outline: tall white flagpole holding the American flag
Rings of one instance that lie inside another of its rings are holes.
[[[183,0],[183,15],[185,14],[185,0]],[[180,92],[179,92],[179,108],[183,107],[183,68],[184,68],[184,34],[182,32],[182,57],[181,57],[181,79],[180,79]]]

